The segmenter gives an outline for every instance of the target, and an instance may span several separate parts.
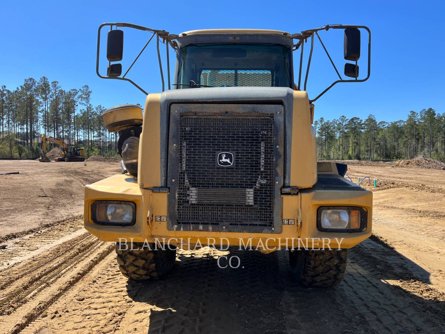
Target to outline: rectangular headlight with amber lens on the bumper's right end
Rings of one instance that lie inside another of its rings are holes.
[[[326,232],[361,232],[366,230],[368,212],[360,207],[320,207],[317,228]]]

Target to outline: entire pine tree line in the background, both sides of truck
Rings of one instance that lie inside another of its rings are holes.
[[[0,158],[36,158],[40,136],[84,147],[87,156],[117,155],[117,134],[101,118],[105,107],[93,106],[88,85],[63,90],[58,81],[24,80],[0,87]],[[318,159],[396,160],[417,155],[445,160],[445,113],[433,108],[410,111],[406,120],[377,122],[374,115],[314,122]],[[51,147],[51,145],[50,145]]]

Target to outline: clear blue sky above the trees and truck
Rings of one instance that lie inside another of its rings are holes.
[[[364,83],[334,86],[316,102],[316,118],[374,114],[378,121],[394,121],[405,119],[410,110],[433,107],[445,112],[444,1],[1,1],[0,12],[0,85],[8,89],[23,84],[26,77],[46,76],[65,90],[89,85],[93,105],[143,104],[144,95],[131,84],[104,80],[95,73],[97,27],[103,22],[130,22],[170,33],[215,28],[298,33],[324,24],[361,24],[372,32],[371,77]],[[320,36],[342,71],[342,33]],[[124,70],[148,37],[125,30]],[[362,33],[361,74],[366,71],[366,44]],[[314,45],[307,85],[310,98],[336,79],[320,43],[316,40]],[[306,56],[308,50],[309,43]],[[155,52],[153,40],[127,75],[149,93],[161,91]],[[294,57],[297,60],[299,54]],[[105,73],[104,53],[101,60]],[[174,57],[171,60],[174,69]],[[294,63],[297,68],[298,62]]]

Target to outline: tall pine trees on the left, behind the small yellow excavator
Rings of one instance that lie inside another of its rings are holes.
[[[87,156],[116,155],[116,133],[105,129],[105,107],[93,106],[91,94],[88,85],[63,90],[47,77],[27,78],[14,90],[1,86],[0,158],[38,157],[42,134],[84,147]]]

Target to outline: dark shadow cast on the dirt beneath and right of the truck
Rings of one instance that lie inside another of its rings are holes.
[[[179,252],[162,280],[128,281],[129,297],[151,305],[148,333],[445,330],[444,294],[427,284],[428,272],[384,244],[366,240],[350,250],[345,279],[334,288],[296,285],[286,251],[229,251],[227,257],[239,257],[239,268],[221,269],[210,254]]]

